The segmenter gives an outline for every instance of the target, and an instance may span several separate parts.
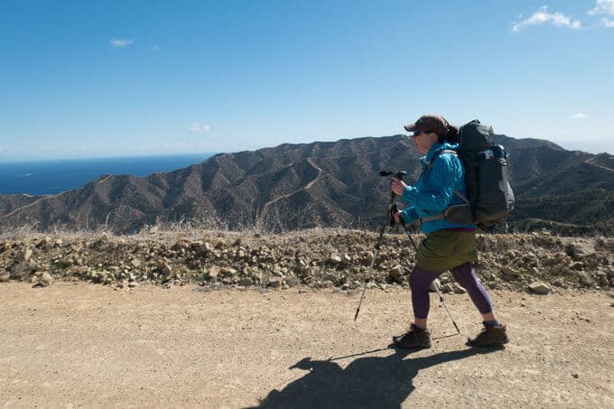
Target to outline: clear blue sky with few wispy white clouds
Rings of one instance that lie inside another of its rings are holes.
[[[3,1],[0,161],[395,135],[614,153],[614,0]]]

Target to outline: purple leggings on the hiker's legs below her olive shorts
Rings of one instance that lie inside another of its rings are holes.
[[[409,284],[412,289],[412,305],[414,306],[414,317],[426,319],[429,315],[431,300],[429,297],[429,286],[433,280],[439,277],[442,272],[424,270],[414,266],[412,274],[409,276]],[[465,263],[451,269],[454,280],[461,287],[467,290],[471,301],[478,307],[479,312],[485,314],[492,311],[492,302],[488,293],[479,283],[478,277],[473,271],[471,263]]]

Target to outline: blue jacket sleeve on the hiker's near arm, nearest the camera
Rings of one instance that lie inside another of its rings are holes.
[[[443,153],[433,160],[433,168],[424,175],[420,189],[407,186],[403,201],[427,214],[442,212],[448,208],[454,186],[462,177],[460,160],[451,153]]]

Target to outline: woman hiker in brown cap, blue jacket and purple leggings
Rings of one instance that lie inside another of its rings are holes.
[[[401,217],[405,223],[420,219],[426,237],[418,246],[416,265],[409,276],[414,322],[405,334],[393,337],[395,345],[406,349],[431,347],[431,331],[426,325],[429,287],[435,278],[447,270],[451,270],[454,280],[467,290],[471,301],[482,314],[484,329],[476,337],[470,338],[468,345],[488,347],[505,344],[509,341],[506,326],[498,321],[490,297],[471,265],[478,260],[476,225],[470,222],[453,224],[445,218],[436,217],[449,206],[463,203],[454,191],[467,197],[462,162],[449,152],[459,147],[459,130],[438,115],[421,116],[414,124],[405,125],[405,130],[414,133],[412,137],[416,150],[424,155],[420,158],[423,172],[415,186],[393,178],[392,191],[408,205],[395,214],[395,219],[399,221]]]

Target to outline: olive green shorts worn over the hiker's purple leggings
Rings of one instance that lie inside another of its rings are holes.
[[[418,246],[418,266],[429,271],[444,272],[477,260],[473,231],[433,231]]]

